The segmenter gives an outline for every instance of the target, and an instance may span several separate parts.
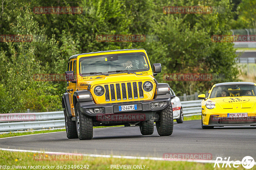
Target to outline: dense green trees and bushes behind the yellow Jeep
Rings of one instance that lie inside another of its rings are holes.
[[[160,0],[2,0],[2,35],[36,37],[32,42],[0,42],[0,113],[61,109],[65,81],[35,81],[34,74],[61,74],[68,57],[113,49],[144,48],[150,62],[162,63],[159,82],[178,95],[209,89],[212,84],[236,81],[232,43],[215,43],[212,35],[228,34],[233,6],[220,1]],[[34,7],[80,6],[82,14],[35,14]],[[164,14],[164,6],[212,6],[209,14]],[[225,10],[218,10],[225,9]],[[241,7],[242,9],[242,7]],[[100,34],[145,34],[145,42],[97,42]],[[214,81],[165,81],[167,73],[224,74]]]

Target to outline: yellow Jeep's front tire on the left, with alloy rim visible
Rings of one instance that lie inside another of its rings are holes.
[[[76,103],[75,111],[76,111],[76,132],[77,132],[78,138],[80,140],[92,139],[93,137],[92,117],[88,117],[81,112],[79,103]]]

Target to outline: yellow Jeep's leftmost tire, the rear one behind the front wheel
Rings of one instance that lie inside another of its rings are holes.
[[[66,127],[66,133],[67,138],[69,139],[77,139],[77,132],[76,132],[76,122],[72,121],[72,117],[68,117],[66,109],[64,111],[64,117],[65,117],[65,127]]]

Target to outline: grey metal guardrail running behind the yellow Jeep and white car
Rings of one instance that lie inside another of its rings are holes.
[[[201,101],[182,101],[183,114],[201,112]],[[0,114],[0,132],[65,127],[63,111]]]

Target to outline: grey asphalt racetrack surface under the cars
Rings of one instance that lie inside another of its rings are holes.
[[[152,135],[143,136],[138,126],[93,130],[92,140],[68,139],[66,131],[0,139],[0,148],[85,154],[163,157],[164,153],[211,153],[242,160],[256,157],[256,126],[201,128],[201,120],[177,124],[171,136],[160,137],[156,126]]]

